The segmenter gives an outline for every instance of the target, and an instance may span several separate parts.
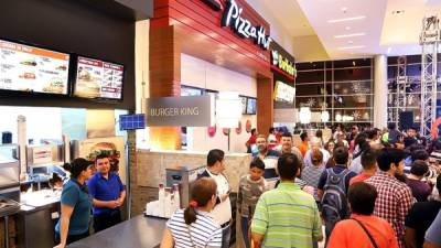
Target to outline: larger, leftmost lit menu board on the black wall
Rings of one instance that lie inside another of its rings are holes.
[[[69,55],[0,40],[0,89],[67,95]]]

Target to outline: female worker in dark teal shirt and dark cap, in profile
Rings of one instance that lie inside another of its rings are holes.
[[[86,180],[92,175],[94,162],[75,159],[63,168],[71,172],[71,179],[63,186],[61,198],[61,217],[55,226],[55,248],[89,236],[92,201],[87,192]]]

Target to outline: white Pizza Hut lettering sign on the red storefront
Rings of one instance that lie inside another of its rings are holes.
[[[236,34],[243,39],[252,39],[255,44],[262,50],[268,50],[271,37],[266,34],[266,30],[261,25],[252,25],[252,23],[241,17],[243,8],[237,6],[235,0],[228,0],[222,18],[222,26],[230,26]]]

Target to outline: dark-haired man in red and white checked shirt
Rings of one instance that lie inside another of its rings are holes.
[[[377,188],[374,215],[392,226],[401,248],[405,247],[405,219],[415,200],[410,187],[396,179],[404,174],[405,151],[384,148],[377,157],[378,172],[365,182]]]

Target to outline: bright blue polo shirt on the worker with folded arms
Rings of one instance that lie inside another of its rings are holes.
[[[125,191],[125,186],[122,185],[121,180],[114,172],[109,172],[108,179],[104,177],[101,173],[97,172],[88,180],[87,186],[90,196],[99,201],[118,200],[121,195],[121,192]],[[112,211],[115,209],[106,207],[94,207],[94,215],[111,213]]]

